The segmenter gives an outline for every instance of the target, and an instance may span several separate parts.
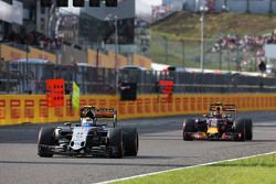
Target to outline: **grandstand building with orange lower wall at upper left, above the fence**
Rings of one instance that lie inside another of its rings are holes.
[[[125,65],[149,68],[151,61],[144,56],[148,47],[137,44],[148,43],[149,36],[139,36],[141,28],[136,32],[135,0],[121,0],[116,9],[103,3],[92,8],[85,1],[84,8],[73,8],[70,0],[68,8],[55,4],[43,8],[40,1],[0,0],[0,9],[6,9],[2,11],[6,14],[0,13],[0,57],[3,61],[43,58],[65,65],[87,63],[108,68]],[[113,18],[107,20],[108,15]]]

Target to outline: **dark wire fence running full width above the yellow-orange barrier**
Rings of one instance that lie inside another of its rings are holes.
[[[118,95],[121,83],[137,85],[137,94],[162,94],[160,80],[173,82],[172,94],[276,93],[275,77],[240,73],[157,72],[141,68],[91,67],[83,65],[34,64],[0,62],[0,94],[46,93],[45,80],[63,78],[65,94],[76,82],[82,95]]]

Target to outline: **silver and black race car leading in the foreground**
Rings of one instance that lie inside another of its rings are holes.
[[[75,126],[65,123],[64,127],[41,128],[38,154],[42,158],[54,154],[107,158],[137,155],[137,129],[117,127],[115,109],[85,106],[81,109],[79,121]]]

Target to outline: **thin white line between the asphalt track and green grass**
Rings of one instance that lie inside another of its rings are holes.
[[[275,153],[276,153],[276,151],[268,152],[268,153],[250,155],[250,156],[244,156],[244,158],[236,158],[236,159],[230,159],[230,160],[223,160],[223,161],[203,163],[203,164],[198,164],[198,165],[183,166],[183,167],[178,167],[178,169],[172,169],[172,170],[164,170],[164,171],[159,171],[159,172],[153,172],[153,173],[134,175],[134,176],[130,176],[130,177],[116,178],[116,180],[110,180],[110,181],[106,181],[106,182],[99,182],[99,183],[95,183],[95,184],[108,184],[108,183],[113,183],[113,182],[120,182],[120,181],[126,181],[126,180],[130,180],[130,178],[138,178],[138,177],[144,177],[144,176],[150,176],[150,175],[156,175],[156,174],[161,174],[161,173],[168,173],[168,172],[178,171],[178,170],[192,169],[192,167],[198,167],[198,166],[206,166],[206,165],[217,164],[217,163],[222,163],[222,162],[233,162],[233,161],[237,161],[237,160],[251,159],[251,158],[256,158],[256,156],[261,156],[261,155],[269,155],[269,154],[275,154]]]

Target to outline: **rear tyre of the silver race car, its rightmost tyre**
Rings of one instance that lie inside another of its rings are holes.
[[[123,130],[125,155],[137,156],[139,149],[139,137],[136,128]]]

